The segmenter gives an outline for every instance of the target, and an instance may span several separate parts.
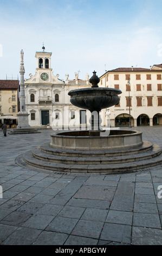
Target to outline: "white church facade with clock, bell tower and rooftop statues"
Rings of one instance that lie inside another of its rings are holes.
[[[46,52],[42,47],[41,52],[36,52],[36,72],[24,80],[25,107],[29,113],[29,125],[35,127],[74,127],[86,125],[90,113],[81,110],[70,103],[68,92],[73,89],[91,87],[89,76],[80,80],[77,72],[75,79],[60,80],[51,69],[51,52]]]

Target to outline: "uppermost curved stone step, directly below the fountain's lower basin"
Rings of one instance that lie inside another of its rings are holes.
[[[49,143],[41,145],[41,150],[44,153],[58,156],[73,156],[73,157],[111,157],[111,156],[124,156],[131,154],[139,154],[151,150],[153,143],[143,141],[143,144],[139,147],[125,148],[125,149],[113,149],[113,150],[95,150],[95,151],[81,151],[81,150],[67,150],[67,149],[56,149],[50,147]]]

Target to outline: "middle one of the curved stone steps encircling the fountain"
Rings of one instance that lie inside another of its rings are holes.
[[[98,156],[95,155],[90,157],[81,156],[58,156],[58,155],[49,155],[48,153],[42,152],[41,148],[38,147],[32,150],[33,156],[36,159],[55,162],[55,163],[65,163],[65,164],[112,164],[112,163],[126,163],[126,162],[135,162],[145,159],[150,159],[161,154],[161,149],[158,145],[153,145],[152,150],[146,151],[140,154],[131,154],[124,156]]]

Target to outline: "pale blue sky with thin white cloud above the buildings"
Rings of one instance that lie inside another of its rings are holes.
[[[161,0],[1,0],[0,79],[35,75],[36,51],[52,52],[54,76],[162,63]]]

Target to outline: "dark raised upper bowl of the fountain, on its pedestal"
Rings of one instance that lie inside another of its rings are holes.
[[[118,105],[121,90],[114,88],[91,87],[70,90],[70,102],[77,107],[88,109],[90,112],[101,111],[102,108]]]

